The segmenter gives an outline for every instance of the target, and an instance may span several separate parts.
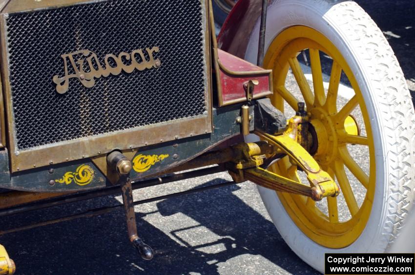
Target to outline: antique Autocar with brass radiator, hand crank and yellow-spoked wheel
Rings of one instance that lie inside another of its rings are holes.
[[[217,7],[229,14],[216,37]],[[124,202],[4,238],[123,207],[149,260],[132,190],[228,171],[151,200],[251,181],[322,272],[327,252],[387,252],[412,209],[414,106],[353,1],[0,0],[0,26],[0,217]],[[0,246],[0,275],[10,257]]]

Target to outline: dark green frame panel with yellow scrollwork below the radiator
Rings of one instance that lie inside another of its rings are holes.
[[[220,109],[213,109],[212,133],[161,143],[157,146],[139,148],[135,157],[140,154],[144,156],[168,156],[163,160],[154,163],[144,172],[132,170],[130,173],[131,179],[138,181],[142,178],[160,174],[172,167],[191,161],[191,159],[203,152],[239,135],[240,125],[236,122],[236,119],[240,115],[240,107],[241,105],[232,105]],[[253,108],[251,108],[251,113],[253,115]],[[253,123],[251,123],[251,128],[253,129]],[[85,167],[85,165],[90,167],[93,171],[92,180],[85,185],[78,184],[73,177],[72,180],[70,180],[71,175],[82,176],[76,171],[80,167]],[[64,179],[65,174],[69,175],[68,182],[70,183],[50,183],[51,181]],[[62,192],[97,189],[109,184],[111,183],[106,180],[105,175],[90,159],[34,168],[32,170],[10,175],[8,153],[7,151],[0,152],[0,188],[32,192]]]

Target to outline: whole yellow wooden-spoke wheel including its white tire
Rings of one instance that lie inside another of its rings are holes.
[[[257,44],[251,36],[247,60]],[[324,253],[387,251],[413,204],[415,116],[385,37],[354,2],[281,0],[269,7],[266,45],[274,106],[290,116],[306,103],[314,158],[341,188],[313,202],[259,187],[271,219],[319,271]],[[287,158],[269,169],[307,184]]]

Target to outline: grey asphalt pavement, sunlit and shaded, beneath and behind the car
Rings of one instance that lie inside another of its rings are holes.
[[[415,1],[357,2],[385,33],[415,92]],[[142,200],[228,180],[219,173],[137,190],[134,197]],[[120,196],[108,196],[15,215],[2,219],[1,229],[120,202]],[[146,203],[135,211],[140,235],[156,252],[151,261],[140,259],[129,244],[121,209],[8,234],[0,243],[15,260],[18,275],[319,274],[281,238],[253,183]],[[347,216],[347,209],[341,212]]]

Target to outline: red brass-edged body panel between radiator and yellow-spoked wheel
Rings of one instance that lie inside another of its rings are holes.
[[[245,101],[247,94],[244,89],[244,83],[247,83],[249,80],[259,81],[259,84],[255,86],[253,98],[264,97],[271,93],[269,71],[219,49],[218,56],[221,64],[228,71],[234,73],[252,72],[250,75],[234,75],[225,72],[221,68],[219,73],[223,105],[228,105],[231,102],[235,102],[235,100],[242,99],[242,101]]]

